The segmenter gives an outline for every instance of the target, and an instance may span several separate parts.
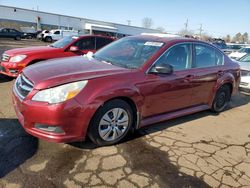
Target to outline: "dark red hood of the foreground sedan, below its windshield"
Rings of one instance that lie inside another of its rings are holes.
[[[35,89],[45,89],[130,71],[95,59],[77,56],[34,64],[25,68],[23,74],[34,83]]]

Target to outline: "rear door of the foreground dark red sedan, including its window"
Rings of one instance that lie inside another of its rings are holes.
[[[193,49],[192,105],[208,104],[217,80],[224,74],[224,55],[216,48],[201,43],[195,43]]]

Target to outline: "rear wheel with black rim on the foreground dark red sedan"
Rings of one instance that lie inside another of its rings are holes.
[[[226,109],[229,101],[231,100],[231,91],[228,85],[221,86],[215,95],[212,111],[216,113],[220,113]]]

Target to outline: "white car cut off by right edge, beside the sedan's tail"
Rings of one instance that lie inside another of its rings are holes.
[[[250,54],[247,54],[238,60],[241,69],[241,81],[239,89],[250,93]]]

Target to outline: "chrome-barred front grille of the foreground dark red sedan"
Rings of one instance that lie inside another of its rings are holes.
[[[16,79],[14,89],[16,94],[21,98],[24,99],[29,92],[33,89],[33,83],[29,81],[23,74],[18,76]]]

